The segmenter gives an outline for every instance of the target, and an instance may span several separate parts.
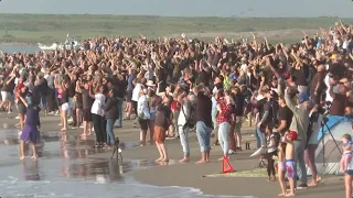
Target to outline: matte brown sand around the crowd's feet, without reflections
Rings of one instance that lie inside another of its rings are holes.
[[[46,134],[62,134],[65,139],[65,133],[57,132],[60,130],[58,117],[41,117],[42,121],[42,135]],[[8,129],[14,129],[14,124],[18,123],[15,119],[7,119],[6,113],[0,114],[0,123]],[[244,124],[245,125],[245,124]],[[1,127],[1,125],[0,125]],[[14,133],[17,136],[17,130],[11,130],[9,133]],[[69,130],[66,136],[74,134],[78,136],[82,133],[82,129]],[[253,129],[244,129],[244,139],[253,140]],[[68,134],[68,135],[67,135]],[[158,158],[158,151],[156,146],[147,145],[145,147],[138,146],[136,143],[139,140],[139,129],[132,128],[132,121],[124,122],[122,129],[115,129],[115,134],[119,136],[122,142],[128,142],[127,148],[124,150],[122,156],[127,160],[146,160],[145,162],[151,162],[151,160]],[[94,138],[88,138],[86,144],[92,144]],[[279,194],[278,183],[269,183],[264,177],[204,177],[205,175],[218,174],[222,172],[222,163],[217,160],[222,156],[220,146],[212,146],[211,163],[195,165],[194,163],[200,157],[200,148],[197,139],[194,133],[191,133],[190,138],[191,162],[186,164],[180,164],[178,161],[182,157],[182,148],[180,140],[168,140],[167,147],[170,162],[168,164],[159,164],[158,166],[148,166],[149,168],[142,168],[137,172],[130,173],[137,180],[156,186],[182,186],[193,187],[201,189],[207,195],[229,195],[229,196],[255,196],[259,198],[274,198]],[[2,144],[2,143],[1,143]],[[250,147],[254,148],[255,142],[252,142]],[[245,146],[243,146],[245,147]],[[248,156],[254,152],[243,151],[231,156],[231,163],[236,170],[253,169],[258,160],[249,158]],[[87,158],[101,160],[109,158],[111,151],[95,152],[87,154]],[[143,161],[139,161],[143,162]],[[317,188],[309,188],[306,190],[297,190],[297,196],[304,198],[322,197],[331,198],[344,197],[343,177],[323,177],[322,184]]]

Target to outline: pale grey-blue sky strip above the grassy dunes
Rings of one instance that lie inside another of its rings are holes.
[[[353,18],[352,0],[1,0],[0,13]]]

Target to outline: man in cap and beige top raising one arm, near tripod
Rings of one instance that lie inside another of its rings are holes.
[[[307,167],[304,163],[304,150],[307,146],[307,132],[309,130],[309,96],[307,92],[300,92],[299,105],[293,101],[293,97],[290,96],[289,88],[285,90],[285,100],[287,107],[293,112],[292,121],[290,123],[289,130],[298,133],[298,139],[295,141],[295,155],[296,164],[299,163],[301,170],[301,184],[298,185],[299,188],[308,187],[307,178]],[[295,166],[297,172],[297,165]],[[298,173],[298,172],[297,172]]]

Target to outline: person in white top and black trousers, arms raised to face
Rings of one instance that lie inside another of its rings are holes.
[[[103,147],[106,142],[106,124],[104,119],[104,106],[106,101],[106,96],[104,92],[107,91],[107,88],[104,86],[98,87],[96,94],[93,94],[93,88],[90,87],[89,96],[95,99],[93,102],[90,113],[93,120],[93,128],[96,133],[96,144],[95,147]]]

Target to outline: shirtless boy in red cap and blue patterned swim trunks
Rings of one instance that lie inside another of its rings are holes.
[[[297,132],[288,131],[285,134],[285,142],[286,145],[286,163],[285,163],[285,170],[287,172],[287,177],[289,182],[290,193],[289,194],[280,194],[279,196],[292,197],[295,196],[295,179],[297,178],[297,173],[295,169],[296,161],[295,161],[295,142],[298,138]]]

